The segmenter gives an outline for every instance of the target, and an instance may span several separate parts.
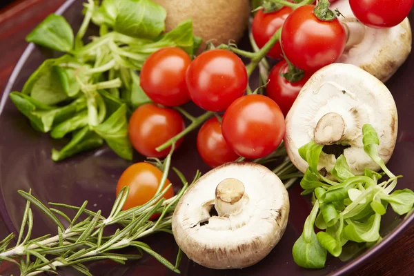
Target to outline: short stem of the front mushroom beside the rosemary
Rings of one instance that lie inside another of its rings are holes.
[[[243,209],[244,184],[235,178],[221,181],[215,190],[215,209],[220,217],[237,215]]]

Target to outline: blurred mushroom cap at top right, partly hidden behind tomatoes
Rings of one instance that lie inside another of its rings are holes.
[[[331,9],[338,9],[344,15],[338,17],[339,21],[359,22],[348,0],[335,1],[331,4]],[[365,26],[361,43],[345,50],[337,62],[359,66],[385,82],[406,61],[411,52],[411,43],[411,26],[408,18],[393,28],[374,29]]]

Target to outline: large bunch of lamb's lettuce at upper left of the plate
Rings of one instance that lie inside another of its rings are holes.
[[[165,47],[179,47],[193,56],[201,39],[190,20],[163,34],[166,11],[150,0],[88,0],[75,35],[65,18],[51,14],[26,38],[64,55],[47,59],[21,92],[10,93],[14,105],[35,130],[55,139],[71,137],[52,150],[55,161],[106,144],[117,155],[132,159],[128,116],[150,102],[137,70],[146,58]],[[99,36],[84,45],[93,21]]]

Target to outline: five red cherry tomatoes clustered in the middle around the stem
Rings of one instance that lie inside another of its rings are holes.
[[[179,48],[155,52],[141,69],[141,87],[155,103],[132,114],[132,145],[146,157],[168,155],[170,148],[155,148],[185,128],[182,115],[172,107],[192,100],[204,110],[224,112],[222,121],[217,115],[199,130],[197,148],[206,164],[215,167],[239,156],[269,155],[284,137],[284,116],[270,98],[244,96],[247,83],[242,59],[228,50],[208,50],[193,61]],[[180,144],[177,141],[175,148]]]

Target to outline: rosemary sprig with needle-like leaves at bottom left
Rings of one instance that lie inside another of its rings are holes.
[[[19,266],[23,276],[38,275],[45,271],[57,274],[56,270],[60,266],[71,266],[84,275],[91,275],[84,265],[86,262],[110,259],[124,264],[129,259],[139,259],[144,253],[148,253],[164,266],[179,273],[181,250],[179,250],[177,262],[174,265],[152,250],[148,244],[139,241],[142,237],[154,233],[172,233],[172,213],[179,199],[186,192],[188,182],[181,172],[173,168],[184,186],[175,197],[164,199],[164,194],[171,187],[171,184],[165,185],[170,163],[171,153],[166,157],[164,163],[159,163],[159,166],[163,169],[163,176],[152,199],[142,206],[122,210],[129,191],[128,187],[125,187],[120,191],[108,217],[103,217],[100,210],[97,212],[88,210],[86,208],[88,201],[85,201],[80,207],[50,203],[49,205],[52,208],[49,208],[31,195],[30,192],[26,193],[19,190],[19,194],[27,201],[19,237],[17,244],[12,248],[8,248],[8,246],[14,238],[13,233],[0,242],[0,260],[6,260]],[[200,173],[197,172],[193,181],[196,181],[199,177]],[[54,237],[46,235],[31,239],[33,228],[32,206],[35,206],[43,215],[56,224],[57,235]],[[74,217],[70,218],[62,210],[59,210],[61,208],[76,210],[77,212]],[[149,220],[155,213],[161,214],[157,221]],[[121,226],[121,228],[117,229],[113,235],[104,235],[106,226],[114,224]],[[66,225],[66,227],[63,225]],[[128,246],[136,248],[136,253],[117,253],[118,249]]]

